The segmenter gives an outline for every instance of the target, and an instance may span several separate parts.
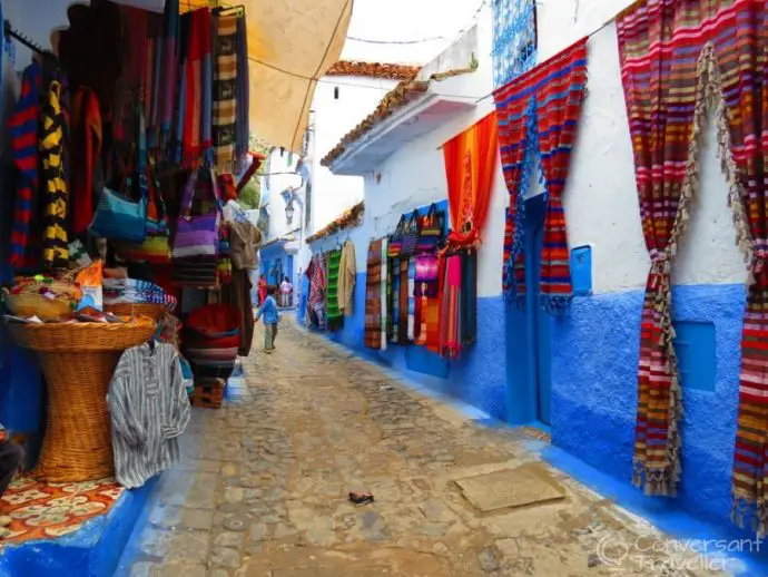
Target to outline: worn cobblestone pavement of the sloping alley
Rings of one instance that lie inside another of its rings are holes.
[[[564,499],[477,512],[453,481],[539,461],[530,431],[482,428],[289,320],[274,354],[260,343],[259,326],[235,399],[195,410],[117,575],[715,575],[551,468]]]

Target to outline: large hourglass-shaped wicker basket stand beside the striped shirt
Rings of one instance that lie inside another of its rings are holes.
[[[122,351],[149,340],[155,323],[11,323],[9,331],[38,353],[48,383],[48,426],[33,475],[50,482],[114,476],[109,383]]]

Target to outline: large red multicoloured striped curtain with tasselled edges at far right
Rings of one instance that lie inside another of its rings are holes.
[[[741,343],[733,518],[742,524],[751,516],[761,534],[768,526],[762,352],[768,334],[768,88],[760,80],[768,62],[766,12],[765,0],[648,0],[617,20],[640,215],[651,257],[641,321],[634,482],[647,493],[673,496],[680,479],[682,411],[670,272],[698,187],[699,140],[712,109],[737,242],[751,273]]]

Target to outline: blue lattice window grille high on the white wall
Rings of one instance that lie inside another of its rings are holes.
[[[496,88],[536,62],[535,0],[493,1],[493,80]]]

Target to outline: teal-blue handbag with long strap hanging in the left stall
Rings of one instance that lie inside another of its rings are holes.
[[[139,139],[136,154],[136,172],[127,174],[121,192],[105,186],[96,214],[90,223],[90,234],[110,241],[142,243],[147,236],[147,137],[144,113],[139,110]],[[131,198],[134,184],[138,184],[139,199]]]

